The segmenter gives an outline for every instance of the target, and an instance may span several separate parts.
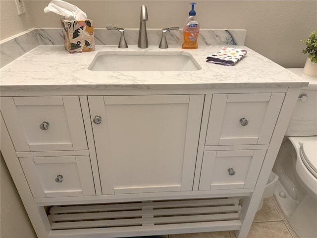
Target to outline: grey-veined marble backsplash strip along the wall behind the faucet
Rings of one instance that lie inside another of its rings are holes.
[[[159,46],[161,29],[148,29],[149,45]],[[96,45],[117,45],[120,33],[106,29],[95,29]],[[198,45],[244,45],[247,30],[243,29],[201,29]],[[125,39],[128,45],[138,44],[139,29],[125,29]],[[183,33],[181,30],[166,33],[166,40],[170,46],[181,46]],[[38,45],[63,45],[63,35],[59,28],[32,29],[25,34],[2,41],[0,44],[0,67],[24,55]]]

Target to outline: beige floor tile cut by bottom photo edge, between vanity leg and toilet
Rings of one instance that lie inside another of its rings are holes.
[[[292,238],[284,222],[253,223],[248,238]]]

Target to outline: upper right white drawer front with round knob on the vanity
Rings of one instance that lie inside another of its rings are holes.
[[[212,96],[206,145],[268,144],[284,93]]]

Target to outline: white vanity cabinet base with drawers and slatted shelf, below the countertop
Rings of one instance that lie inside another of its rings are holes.
[[[299,93],[288,90],[1,97],[1,153],[39,237],[245,238]]]

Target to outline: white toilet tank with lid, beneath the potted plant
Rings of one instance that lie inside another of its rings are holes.
[[[302,68],[289,68],[290,71],[309,80],[308,87],[303,87],[289,122],[285,135],[313,136],[317,135],[317,78],[302,73]],[[306,98],[307,96],[307,98]]]

